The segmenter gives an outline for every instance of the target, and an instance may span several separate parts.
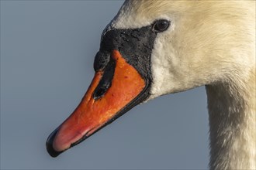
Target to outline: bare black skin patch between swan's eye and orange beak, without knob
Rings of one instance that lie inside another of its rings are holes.
[[[150,78],[150,57],[157,32],[152,26],[140,29],[112,29],[102,39],[100,51],[111,53],[114,49],[132,65],[141,76]]]

